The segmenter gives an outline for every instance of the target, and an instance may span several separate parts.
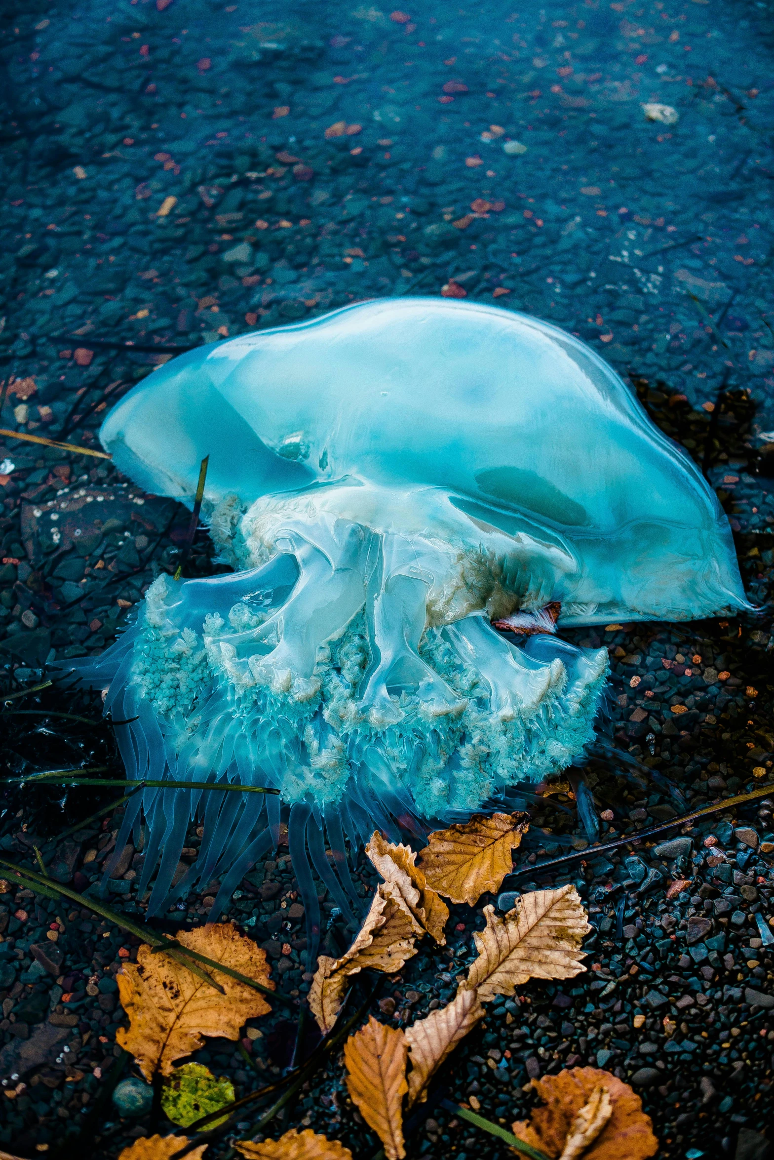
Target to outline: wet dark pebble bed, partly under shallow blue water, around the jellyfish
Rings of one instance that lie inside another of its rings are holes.
[[[636,835],[765,786],[774,768],[771,10],[429,2],[390,15],[293,0],[260,19],[200,0],[10,14],[0,426],[94,448],[111,403],[174,350],[367,297],[496,302],[600,350],[706,470],[764,609],[572,633],[611,653],[607,745],[564,792],[513,796],[533,822],[504,890],[575,882],[596,928],[590,970],[490,1007],[410,1125],[409,1155],[504,1155],[439,1100],[510,1124],[531,1105],[530,1078],[593,1064],[641,1093],[660,1155],[762,1160],[771,800]],[[645,101],[676,108],[678,123],[647,122]],[[189,516],[104,461],[7,436],[0,498],[0,693],[10,696],[46,680],[54,659],[114,638],[153,577],[176,567]],[[204,541],[187,571],[213,571]],[[3,776],[85,763],[121,776],[98,697],[48,688],[2,716]],[[37,846],[56,878],[93,891],[118,815],[57,835],[117,796],[6,790],[0,850],[34,865]],[[584,856],[597,836],[625,835],[623,849]],[[191,829],[184,862],[198,841]],[[572,850],[562,872],[540,871]],[[130,851],[108,894],[134,915],[139,860]],[[365,897],[373,878],[359,870]],[[667,898],[673,882],[684,886]],[[159,926],[199,925],[214,890]],[[301,1002],[294,892],[280,846],[229,914]],[[335,955],[349,933],[328,899],[322,911]],[[481,907],[453,908],[450,947],[423,947],[374,1012],[406,1025],[451,999],[482,926]],[[110,1103],[89,1115],[117,1079],[114,976],[137,941],[64,899],[13,890],[0,896],[0,1145],[32,1157],[64,1140],[117,1155],[153,1126]],[[210,1041],[195,1058],[241,1095],[276,1079],[294,1043],[295,1017],[277,1006],[241,1044]],[[307,1029],[306,1050],[314,1043]],[[291,1124],[336,1134],[357,1157],[378,1151],[338,1066],[300,1094]]]

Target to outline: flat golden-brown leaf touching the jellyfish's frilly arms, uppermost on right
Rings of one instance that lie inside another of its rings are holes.
[[[487,890],[497,890],[513,869],[511,850],[530,828],[526,813],[475,813],[463,826],[430,835],[419,854],[428,885],[453,902],[475,906]]]

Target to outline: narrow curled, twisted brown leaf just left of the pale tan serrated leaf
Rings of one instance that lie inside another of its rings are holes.
[[[341,958],[321,955],[309,988],[309,1008],[323,1035],[341,1010],[348,977],[371,969],[394,974],[416,955],[414,938],[423,928],[392,883],[381,883],[357,937]]]

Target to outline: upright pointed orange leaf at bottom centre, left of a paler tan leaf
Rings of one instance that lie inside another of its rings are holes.
[[[408,1090],[406,1059],[403,1032],[385,1027],[373,1015],[344,1046],[346,1090],[384,1144],[387,1160],[406,1155],[401,1112],[401,1100]]]

